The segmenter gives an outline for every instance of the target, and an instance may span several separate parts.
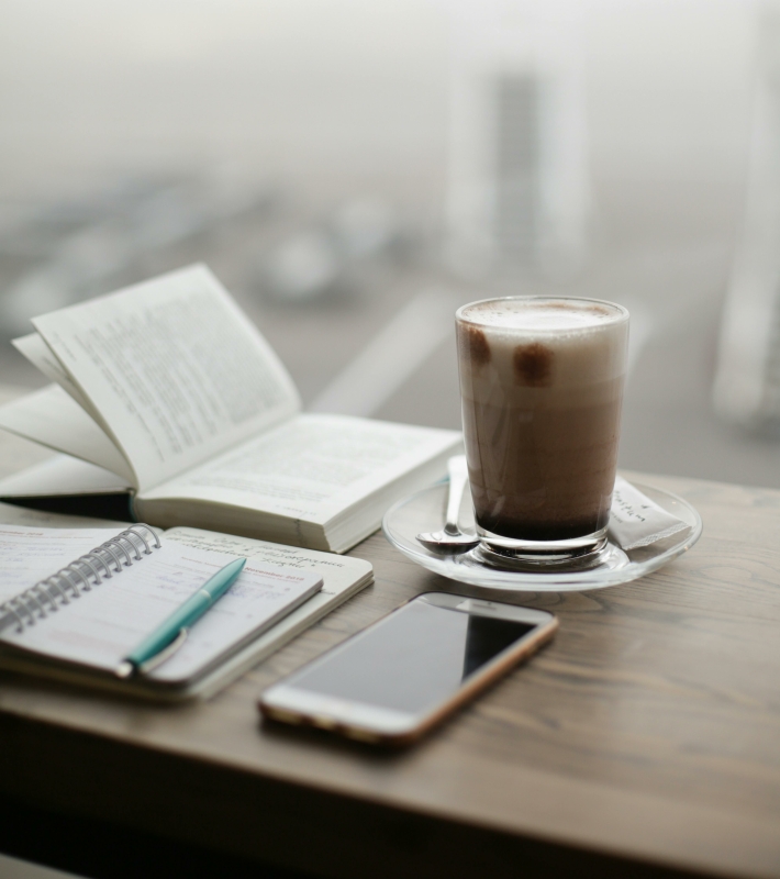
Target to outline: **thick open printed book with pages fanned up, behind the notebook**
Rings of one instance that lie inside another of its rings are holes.
[[[0,427],[64,456],[0,497],[130,491],[138,521],[343,553],[444,476],[453,431],[301,413],[290,376],[204,266],[36,318],[14,341],[55,383]]]

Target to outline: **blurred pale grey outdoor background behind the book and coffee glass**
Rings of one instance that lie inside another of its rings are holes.
[[[780,12],[0,0],[0,380],[192,262],[312,410],[459,426],[453,313],[632,311],[621,463],[780,487]]]

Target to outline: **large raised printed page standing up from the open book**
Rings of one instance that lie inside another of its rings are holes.
[[[140,489],[300,408],[274,352],[203,266],[60,309],[33,324],[100,412]]]

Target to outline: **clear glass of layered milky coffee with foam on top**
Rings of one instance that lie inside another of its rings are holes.
[[[506,297],[456,314],[469,482],[488,564],[598,564],[617,463],[628,312]]]

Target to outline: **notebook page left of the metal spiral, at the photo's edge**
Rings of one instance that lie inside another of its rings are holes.
[[[51,577],[116,533],[115,526],[48,528],[0,524],[0,601]]]

